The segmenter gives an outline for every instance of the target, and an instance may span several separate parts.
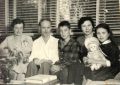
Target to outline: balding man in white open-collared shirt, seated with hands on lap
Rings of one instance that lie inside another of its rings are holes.
[[[51,66],[59,60],[58,39],[51,36],[51,21],[42,19],[39,22],[39,26],[41,36],[33,42],[26,77],[38,73],[50,74]]]

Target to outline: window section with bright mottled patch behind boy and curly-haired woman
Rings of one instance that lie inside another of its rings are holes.
[[[61,1],[61,2],[60,2]],[[72,33],[74,34],[80,34],[80,29],[77,29],[77,23],[78,20],[82,17],[82,16],[89,16],[92,17],[94,22],[96,20],[96,0],[57,0],[57,5],[62,5],[60,8],[60,6],[57,6],[57,19],[59,21],[57,21],[57,23],[59,23],[62,20],[69,20],[72,26]],[[61,3],[61,4],[60,4]],[[63,5],[66,4],[66,5]],[[67,9],[68,8],[68,9]],[[64,9],[64,11],[63,11]],[[66,11],[67,10],[67,11]],[[62,14],[60,14],[60,12],[63,13],[63,17]],[[70,15],[69,15],[70,13]],[[65,16],[67,15],[68,16]],[[65,18],[64,18],[65,17]]]

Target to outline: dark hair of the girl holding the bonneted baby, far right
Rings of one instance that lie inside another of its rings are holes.
[[[115,40],[114,40],[114,37],[113,37],[113,33],[112,33],[112,30],[110,29],[109,25],[106,24],[106,23],[100,23],[98,24],[96,27],[95,27],[95,36],[97,37],[97,30],[99,28],[103,28],[105,29],[108,33],[109,33],[109,39],[112,41],[112,43],[116,44],[115,43]]]

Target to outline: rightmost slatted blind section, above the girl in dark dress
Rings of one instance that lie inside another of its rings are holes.
[[[109,24],[115,33],[120,29],[119,5],[119,0],[100,0],[99,22]]]

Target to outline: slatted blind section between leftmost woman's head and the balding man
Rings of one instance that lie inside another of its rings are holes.
[[[36,3],[29,3],[29,0],[17,0],[16,16],[25,22],[25,30],[37,29],[38,7]]]

